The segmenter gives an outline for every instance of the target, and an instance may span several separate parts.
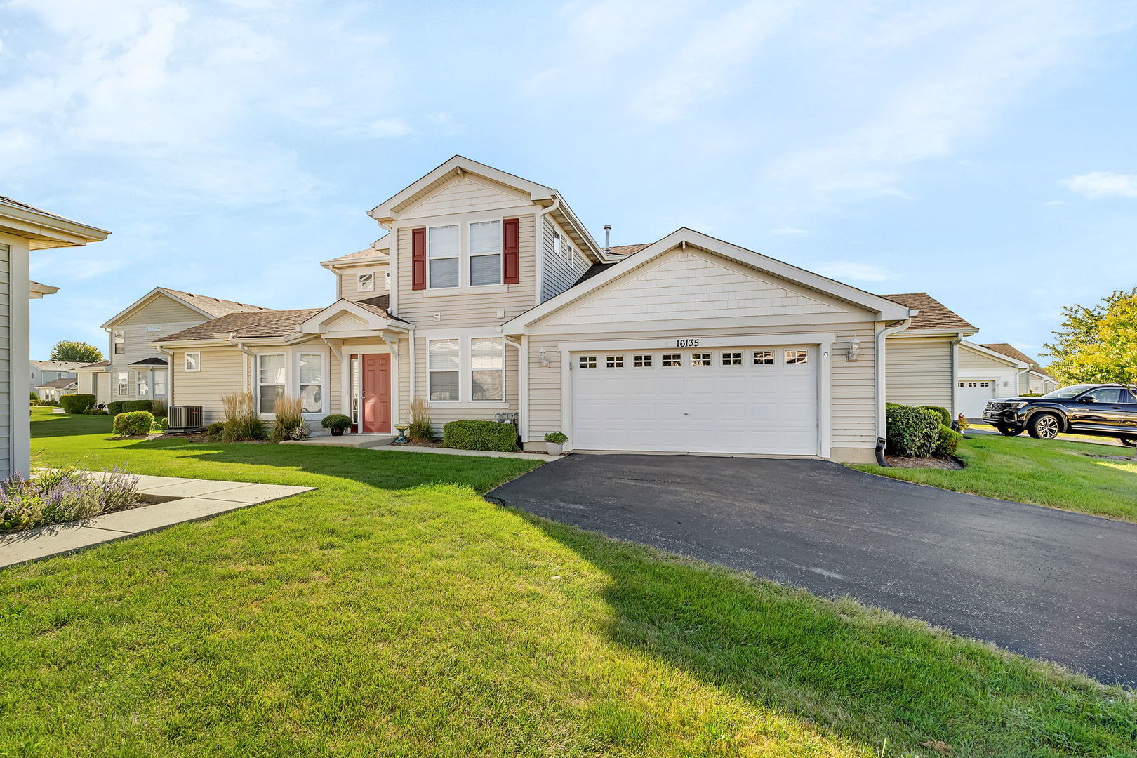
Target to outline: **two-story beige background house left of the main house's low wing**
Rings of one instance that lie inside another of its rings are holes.
[[[168,402],[168,356],[155,349],[163,336],[238,313],[275,313],[260,306],[204,294],[155,288],[102,327],[109,336],[110,359],[81,372],[84,392],[96,401],[163,400]]]

